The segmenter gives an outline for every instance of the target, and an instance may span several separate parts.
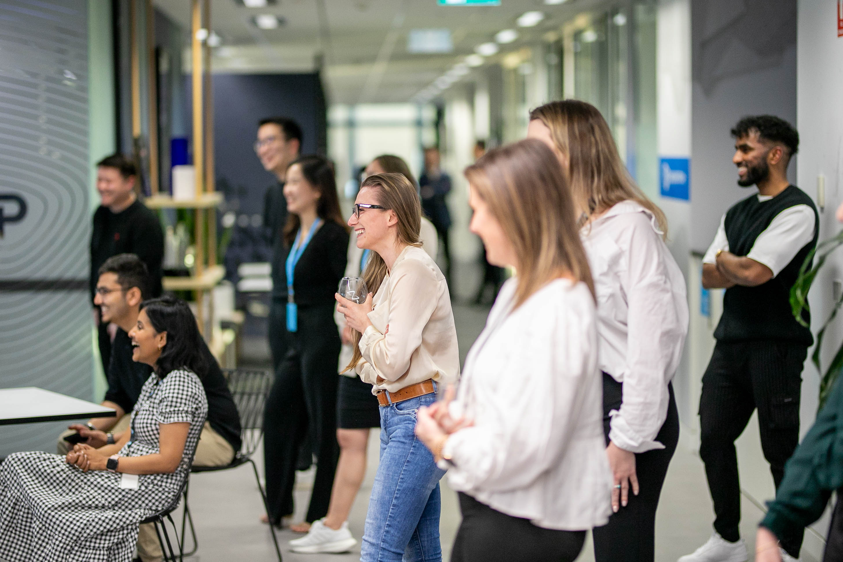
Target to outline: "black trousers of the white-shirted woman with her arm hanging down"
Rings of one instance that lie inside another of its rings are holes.
[[[656,552],[656,509],[664,477],[679,442],[679,413],[673,383],[668,384],[668,417],[656,441],[664,448],[636,453],[638,495],[630,491],[626,507],[609,517],[609,523],[593,530],[596,562],[652,562]],[[603,431],[609,446],[609,412],[620,409],[623,383],[603,373]]]

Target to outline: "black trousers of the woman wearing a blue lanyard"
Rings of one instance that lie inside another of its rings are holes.
[[[264,411],[266,500],[272,522],[293,513],[298,452],[310,436],[318,458],[306,521],[325,517],[340,447],[336,442],[336,372],[340,335],[334,305],[298,308],[298,331],[289,333]]]

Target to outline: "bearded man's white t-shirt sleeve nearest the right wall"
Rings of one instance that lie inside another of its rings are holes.
[[[774,277],[779,275],[799,250],[813,240],[815,222],[811,207],[788,207],[776,215],[770,226],[755,238],[746,257],[769,267]]]

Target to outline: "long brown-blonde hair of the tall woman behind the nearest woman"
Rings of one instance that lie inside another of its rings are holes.
[[[529,119],[544,123],[566,156],[574,201],[587,222],[621,201],[636,201],[652,212],[663,237],[668,237],[668,219],[626,171],[612,131],[596,107],[577,99],[551,101],[530,111]]]

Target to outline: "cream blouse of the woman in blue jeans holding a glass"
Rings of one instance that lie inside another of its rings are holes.
[[[407,246],[373,297],[372,325],[360,338],[355,371],[372,392],[395,392],[429,378],[454,383],[459,348],[448,283],[427,253]],[[387,330],[389,326],[389,330]],[[381,377],[384,383],[377,383]]]

